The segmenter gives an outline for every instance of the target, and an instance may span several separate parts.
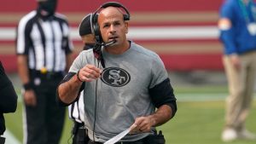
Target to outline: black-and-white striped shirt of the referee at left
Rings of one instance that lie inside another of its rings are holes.
[[[66,55],[73,50],[67,20],[55,14],[47,20],[40,19],[37,11],[26,14],[19,22],[16,35],[17,55],[28,55],[28,68],[40,71],[62,72]]]

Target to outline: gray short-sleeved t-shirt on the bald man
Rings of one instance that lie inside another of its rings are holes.
[[[84,86],[84,123],[93,139],[96,122],[95,141],[105,142],[128,129],[135,118],[155,111],[148,89],[168,75],[160,57],[136,43],[131,42],[130,49],[121,55],[111,55],[104,49],[102,55],[106,65],[102,78]],[[102,68],[89,49],[79,54],[69,72],[78,72],[86,64]],[[122,141],[137,141],[147,135],[126,135]]]

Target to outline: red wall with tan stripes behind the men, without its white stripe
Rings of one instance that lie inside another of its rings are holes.
[[[67,15],[70,26],[75,29],[85,14],[95,11],[104,2],[108,1],[63,0],[59,1],[58,11]],[[116,0],[116,2],[123,3],[130,10],[131,27],[191,26],[193,29],[193,26],[217,26],[218,9],[222,0]],[[15,30],[20,18],[36,7],[36,0],[5,1],[0,5],[0,32],[4,28]],[[166,68],[172,71],[223,69],[222,46],[218,42],[218,37],[133,40],[158,53]],[[78,54],[82,43],[78,38],[73,39],[73,42],[75,52]],[[16,72],[15,36],[0,37],[0,60],[3,61],[8,72]]]

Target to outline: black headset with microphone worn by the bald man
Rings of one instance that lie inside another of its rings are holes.
[[[94,14],[92,15],[92,29],[93,29],[93,32],[94,32],[95,37],[96,37],[96,43],[98,43],[102,46],[108,46],[108,45],[111,45],[111,44],[116,42],[115,40],[113,40],[111,42],[104,43],[103,39],[102,39],[101,31],[100,31],[100,26],[98,25],[98,20],[97,20],[96,14],[98,14],[101,9],[105,9],[105,8],[108,8],[108,7],[116,7],[116,8],[124,9],[125,13],[126,13],[126,14],[123,14],[124,15],[124,20],[130,20],[130,13],[129,13],[128,9],[126,9],[125,6],[123,6],[121,3],[117,3],[117,2],[103,3],[100,8],[96,9]]]

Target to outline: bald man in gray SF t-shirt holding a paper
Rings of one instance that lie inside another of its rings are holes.
[[[108,141],[127,128],[131,133],[122,143],[148,144],[155,127],[174,116],[176,98],[160,57],[126,39],[128,19],[119,8],[124,7],[107,5],[97,19],[105,68],[93,49],[81,52],[70,79],[59,85],[58,98],[72,103],[84,83],[84,125],[90,144]]]

